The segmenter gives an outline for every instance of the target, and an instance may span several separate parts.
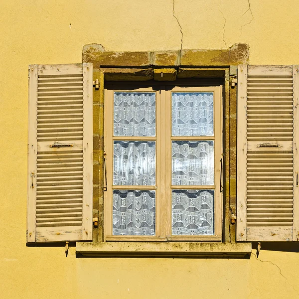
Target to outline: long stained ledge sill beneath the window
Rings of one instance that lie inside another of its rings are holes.
[[[250,258],[251,243],[77,242],[77,257]]]

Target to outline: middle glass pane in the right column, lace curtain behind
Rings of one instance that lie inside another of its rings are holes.
[[[214,141],[172,142],[172,185],[214,185]]]

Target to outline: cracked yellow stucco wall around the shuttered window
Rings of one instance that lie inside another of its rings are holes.
[[[249,2],[175,0],[182,48],[244,42],[251,64],[298,64],[298,1]],[[25,246],[28,64],[81,62],[89,43],[180,49],[172,9],[173,0],[0,1],[0,298],[299,298],[299,254],[263,245],[259,261],[76,259],[74,247],[66,258],[62,247]]]

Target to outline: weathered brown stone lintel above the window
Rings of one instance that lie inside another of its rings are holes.
[[[92,62],[94,68],[146,67],[146,66],[228,66],[249,63],[249,47],[237,43],[227,49],[204,49],[180,51],[107,52],[102,45],[83,47],[83,62]]]

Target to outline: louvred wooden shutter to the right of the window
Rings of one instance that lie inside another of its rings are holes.
[[[299,238],[298,94],[298,66],[238,67],[238,241]]]

